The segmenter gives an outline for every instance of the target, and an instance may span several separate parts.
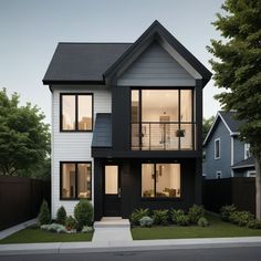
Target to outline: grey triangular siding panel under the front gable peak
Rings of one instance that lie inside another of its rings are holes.
[[[150,44],[119,76],[121,86],[195,86],[196,81],[159,43]]]

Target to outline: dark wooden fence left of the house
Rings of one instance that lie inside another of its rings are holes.
[[[50,181],[0,176],[0,230],[35,218],[43,199],[50,206]]]

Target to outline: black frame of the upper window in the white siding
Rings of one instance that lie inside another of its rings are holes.
[[[75,129],[63,129],[63,96],[75,96]],[[92,129],[79,129],[79,96],[92,96]],[[60,132],[61,133],[92,133],[94,117],[94,95],[93,93],[60,93]]]

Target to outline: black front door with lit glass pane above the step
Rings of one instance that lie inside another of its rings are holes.
[[[104,208],[105,217],[121,216],[121,177],[118,165],[104,166]]]

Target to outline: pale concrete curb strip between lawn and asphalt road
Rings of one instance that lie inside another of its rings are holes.
[[[1,244],[0,255],[261,247],[261,237]]]

